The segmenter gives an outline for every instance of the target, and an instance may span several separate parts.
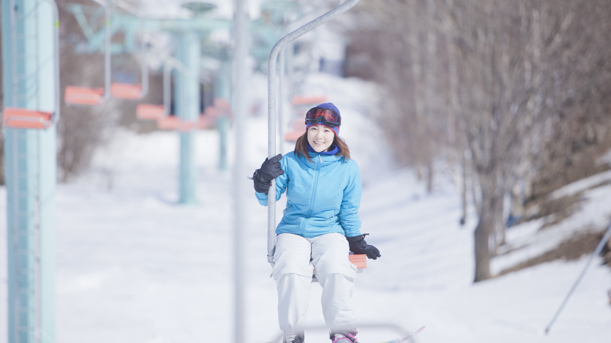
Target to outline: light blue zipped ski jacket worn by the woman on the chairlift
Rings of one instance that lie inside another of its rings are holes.
[[[362,186],[359,166],[342,156],[309,152],[312,162],[291,151],[280,160],[284,175],[276,178],[276,200],[287,192],[287,208],[276,234],[313,238],[327,233],[359,236]],[[268,195],[255,192],[267,206]]]

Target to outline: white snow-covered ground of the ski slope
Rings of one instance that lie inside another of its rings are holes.
[[[434,192],[426,193],[410,170],[392,167],[383,135],[364,115],[367,104],[375,103],[371,84],[323,74],[308,82],[342,110],[340,134],[363,173],[362,231],[382,255],[357,276],[362,343],[387,341],[422,325],[419,343],[611,341],[611,270],[599,259],[545,336],[586,258],[473,284],[476,218],[470,211],[467,224],[458,225],[459,195],[451,178],[439,176]],[[90,173],[57,187],[57,343],[232,342],[232,175],[216,168],[217,140],[214,131],[197,135],[196,205],[176,204],[173,132],[117,132]],[[248,119],[247,142],[247,165],[254,170],[266,155],[265,117]],[[265,257],[266,209],[252,189],[243,196],[245,343],[265,343],[280,334],[276,286]],[[4,209],[4,194],[0,199]],[[4,210],[1,215],[4,240]],[[309,343],[328,342],[319,299],[320,286],[312,284],[309,325],[319,328],[306,332]],[[5,313],[0,309],[0,325]]]

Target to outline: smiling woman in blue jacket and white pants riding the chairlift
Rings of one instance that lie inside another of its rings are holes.
[[[359,166],[338,136],[341,123],[334,104],[313,107],[305,115],[305,133],[295,151],[265,159],[252,175],[262,205],[267,205],[271,180],[276,179],[276,200],[287,192],[287,208],[276,228],[272,270],[283,343],[304,342],[314,270],[323,287],[321,303],[332,343],[357,342],[351,303],[357,270],[348,261],[348,251],[380,257],[360,233]]]

